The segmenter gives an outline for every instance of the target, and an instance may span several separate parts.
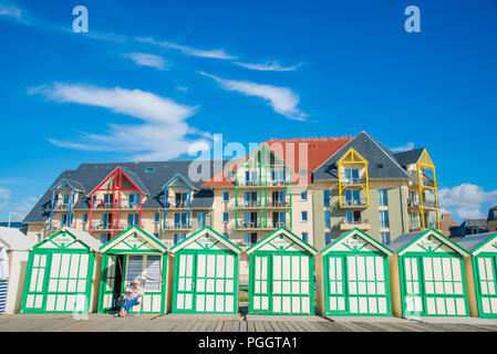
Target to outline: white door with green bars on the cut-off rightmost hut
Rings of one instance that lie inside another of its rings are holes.
[[[482,312],[485,314],[497,314],[496,294],[496,258],[478,257],[478,284],[482,299]]]

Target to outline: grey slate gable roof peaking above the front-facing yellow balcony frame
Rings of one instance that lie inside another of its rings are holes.
[[[393,153],[382,145],[380,142],[372,138],[365,132],[361,132],[352,140],[343,145],[333,156],[331,156],[324,164],[318,167],[312,176],[314,180],[334,180],[338,179],[338,162],[345,155],[350,148],[353,148],[367,164],[367,175],[370,179],[397,179],[411,178],[407,171],[402,168],[395,159]],[[380,168],[379,165],[383,165]]]

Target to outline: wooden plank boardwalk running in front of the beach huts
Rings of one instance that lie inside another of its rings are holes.
[[[0,332],[497,332],[497,320],[323,319],[320,316],[240,316],[168,314],[115,319],[90,314],[0,315]]]

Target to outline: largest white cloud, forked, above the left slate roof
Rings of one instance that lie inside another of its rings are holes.
[[[82,133],[79,140],[52,138],[54,145],[82,150],[118,152],[133,158],[153,160],[170,159],[188,152],[195,143],[204,146],[210,142],[198,138],[206,133],[191,128],[185,121],[196,113],[196,107],[180,105],[170,98],[141,90],[105,88],[82,84],[55,83],[29,90],[61,103],[77,103],[111,110],[139,119],[141,124],[110,124],[104,134]],[[196,132],[197,137],[189,137]]]

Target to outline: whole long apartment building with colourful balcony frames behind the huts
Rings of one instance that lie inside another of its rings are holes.
[[[270,139],[236,163],[82,164],[24,222],[34,241],[68,226],[106,242],[136,225],[169,246],[204,226],[241,248],[280,227],[318,250],[353,228],[387,244],[439,228],[436,187],[424,148],[394,154],[364,132]]]

